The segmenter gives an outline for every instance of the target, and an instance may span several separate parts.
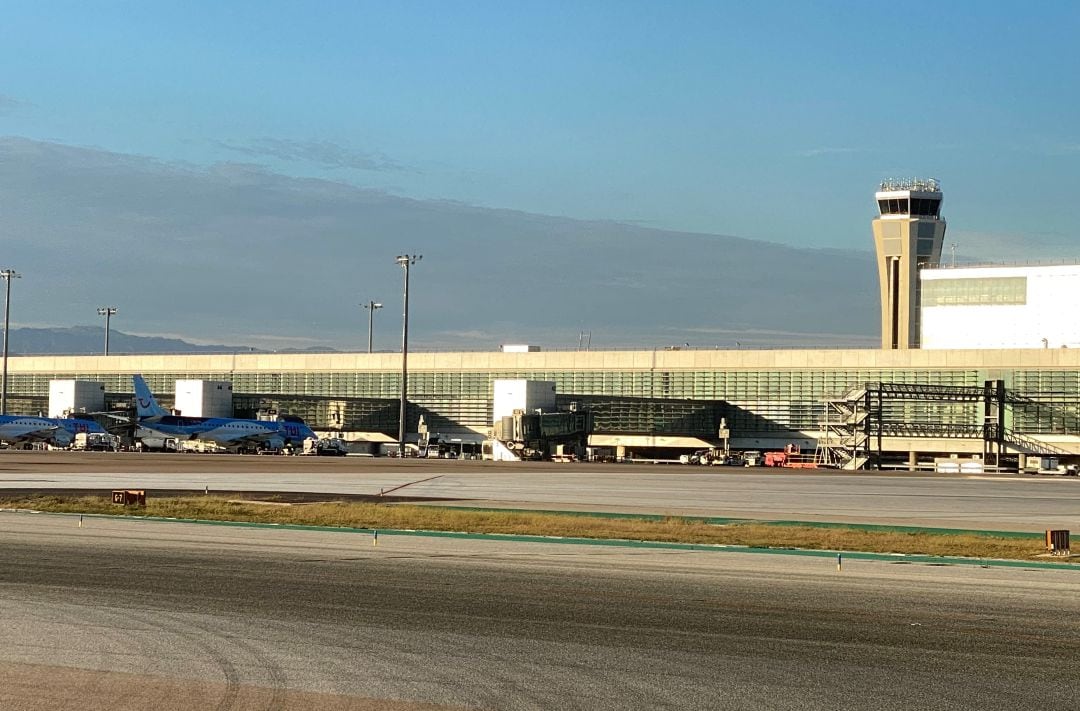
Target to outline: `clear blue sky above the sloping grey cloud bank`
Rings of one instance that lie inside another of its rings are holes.
[[[936,177],[960,255],[1076,258],[1078,36],[1074,2],[10,2],[0,136],[808,249]]]

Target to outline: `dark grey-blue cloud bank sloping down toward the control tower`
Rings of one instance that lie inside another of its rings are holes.
[[[262,349],[376,350],[401,338],[402,270],[415,350],[873,345],[877,268],[869,214],[829,217],[866,250],[414,200],[239,164],[0,137],[3,266],[12,318],[113,325]],[[869,210],[867,210],[869,213]],[[808,216],[808,219],[810,216]],[[826,219],[813,216],[813,219]],[[65,321],[70,319],[71,321]],[[100,352],[100,327],[19,336],[19,352]],[[114,352],[207,352],[116,333]],[[240,348],[243,348],[241,346]]]

